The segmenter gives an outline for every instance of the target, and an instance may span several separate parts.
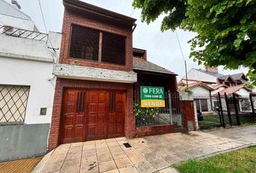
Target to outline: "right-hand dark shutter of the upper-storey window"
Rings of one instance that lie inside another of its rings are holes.
[[[103,32],[101,61],[125,65],[125,38]]]

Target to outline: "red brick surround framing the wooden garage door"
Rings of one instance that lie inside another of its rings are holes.
[[[125,118],[125,136],[135,136],[135,115],[133,115],[133,85],[119,84],[102,81],[80,81],[73,79],[57,79],[54,96],[54,110],[51,120],[51,131],[49,136],[48,150],[59,145],[59,131],[61,130],[61,105],[65,88],[82,89],[119,89],[127,91],[127,112]]]

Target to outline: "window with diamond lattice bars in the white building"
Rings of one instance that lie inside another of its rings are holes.
[[[0,85],[0,123],[22,123],[25,120],[30,86]]]

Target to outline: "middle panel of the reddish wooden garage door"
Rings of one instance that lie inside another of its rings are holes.
[[[87,100],[86,141],[107,138],[107,92],[90,91]]]

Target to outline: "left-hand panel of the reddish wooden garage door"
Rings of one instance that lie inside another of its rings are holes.
[[[85,92],[69,89],[64,92],[61,143],[85,140]]]

